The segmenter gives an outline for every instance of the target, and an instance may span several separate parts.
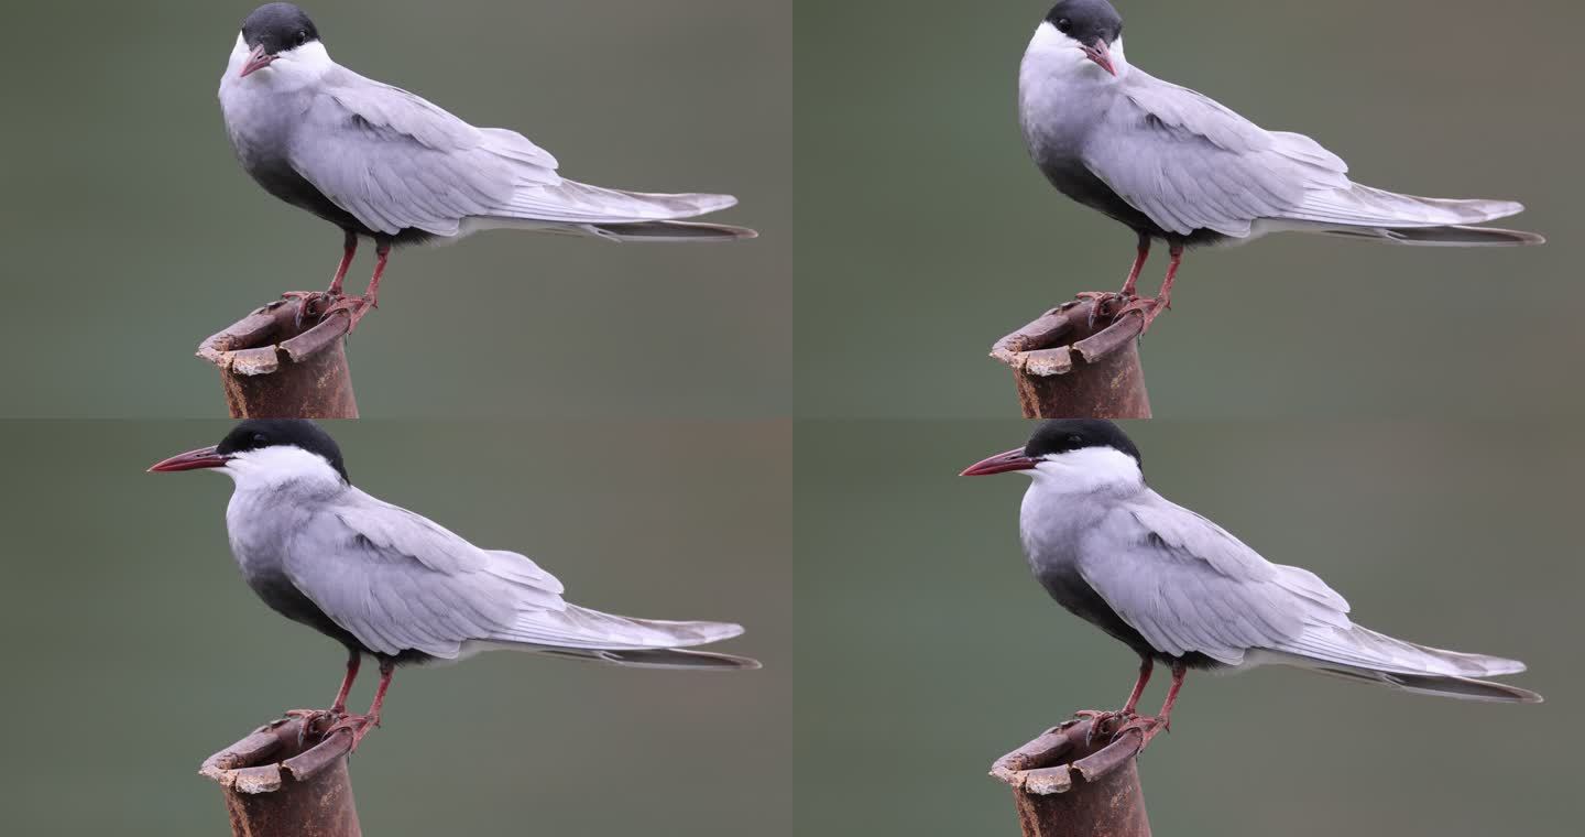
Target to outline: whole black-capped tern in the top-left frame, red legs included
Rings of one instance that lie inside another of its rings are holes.
[[[729,241],[753,230],[688,219],[726,209],[731,195],[659,195],[569,181],[523,135],[476,128],[423,98],[338,65],[319,29],[292,3],[266,3],[243,21],[220,76],[220,111],[243,168],[271,195],[344,233],[325,293],[292,292],[304,306],[333,301],[353,325],[376,306],[393,244],[458,239],[488,228],[609,241]],[[377,262],[363,296],[341,282],[358,236]]]

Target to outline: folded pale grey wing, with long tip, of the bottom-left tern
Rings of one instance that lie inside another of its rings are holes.
[[[471,642],[563,652],[672,648],[742,633],[735,625],[579,607],[526,556],[479,548],[357,488],[298,528],[285,571],[327,617],[384,655],[418,650],[452,659]]]

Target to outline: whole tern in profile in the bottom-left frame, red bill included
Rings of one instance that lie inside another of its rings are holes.
[[[277,613],[347,648],[347,674],[330,710],[292,710],[352,731],[380,723],[398,664],[460,659],[509,648],[667,669],[756,669],[742,656],[683,650],[743,633],[721,621],[617,617],[561,598],[534,561],[480,548],[437,523],[382,503],[347,477],[341,449],[306,420],[247,420],[220,444],[149,471],[212,468],[236,483],[225,510],[243,579]],[[361,655],[380,664],[365,715],[347,715]]]

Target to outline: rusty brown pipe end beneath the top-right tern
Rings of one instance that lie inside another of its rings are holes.
[[[1025,418],[1149,418],[1138,315],[1113,320],[1095,300],[1064,303],[1002,338]]]

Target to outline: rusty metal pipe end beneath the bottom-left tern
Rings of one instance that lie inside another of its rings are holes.
[[[225,794],[233,837],[360,837],[347,777],[352,734],[298,743],[301,718],[260,726],[204,759],[200,775]]]

